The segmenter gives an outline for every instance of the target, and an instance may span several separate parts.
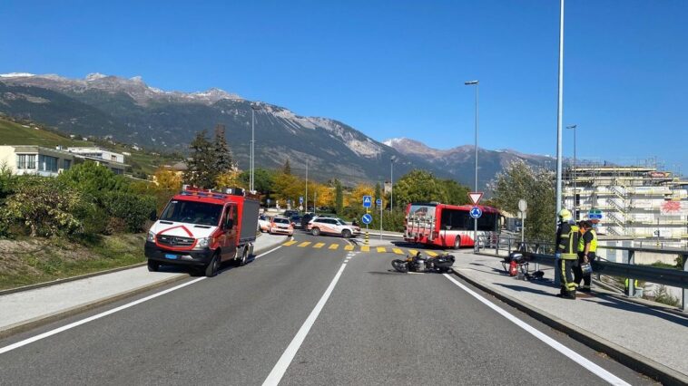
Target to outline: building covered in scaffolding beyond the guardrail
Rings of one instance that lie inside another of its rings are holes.
[[[576,219],[602,213],[599,234],[688,246],[688,181],[673,173],[585,164],[567,168],[564,184],[564,205]]]

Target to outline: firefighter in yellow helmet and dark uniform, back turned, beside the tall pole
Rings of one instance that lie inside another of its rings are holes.
[[[578,265],[578,226],[573,222],[568,209],[559,211],[559,226],[556,228],[556,257],[561,270],[561,292],[558,297],[575,299],[574,266]]]

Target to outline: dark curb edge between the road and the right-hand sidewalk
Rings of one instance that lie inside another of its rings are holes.
[[[555,330],[567,334],[571,338],[585,344],[597,352],[604,352],[605,354],[609,355],[609,357],[614,359],[614,361],[624,364],[624,366],[627,366],[636,372],[641,372],[656,381],[662,382],[665,385],[688,384],[688,376],[681,372],[670,369],[669,367],[664,366],[662,363],[654,362],[649,358],[645,358],[643,355],[637,352],[627,350],[616,343],[609,342],[606,339],[595,335],[594,333],[581,331],[574,324],[559,319],[554,315],[547,314],[545,311],[542,311],[531,305],[523,304],[507,294],[503,294],[496,289],[490,288],[488,285],[483,285],[477,280],[459,273],[456,269],[453,271],[454,275],[457,275],[461,279],[467,281],[469,284],[480,288],[487,294],[492,294],[502,302],[515,307],[516,309],[532,316],[539,322],[545,323]]]

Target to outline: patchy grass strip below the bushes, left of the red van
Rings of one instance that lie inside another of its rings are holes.
[[[17,246],[29,246],[29,250],[5,253],[0,258],[0,289],[143,263],[144,241],[143,234],[103,236],[87,243],[65,239],[15,240]]]

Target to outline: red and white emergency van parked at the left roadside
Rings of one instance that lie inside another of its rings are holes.
[[[253,252],[260,201],[241,188],[221,191],[184,185],[148,231],[148,269],[192,265],[217,274],[224,261],[244,265]]]

